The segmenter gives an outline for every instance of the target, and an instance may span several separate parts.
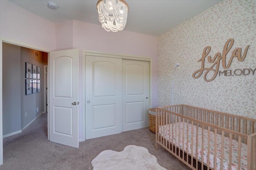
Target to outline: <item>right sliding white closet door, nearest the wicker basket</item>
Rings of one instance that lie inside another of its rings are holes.
[[[149,62],[122,60],[122,131],[148,127]]]

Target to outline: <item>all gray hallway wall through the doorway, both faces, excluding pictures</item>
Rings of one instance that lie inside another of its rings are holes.
[[[38,57],[35,50],[3,43],[3,135],[23,129],[44,111],[47,53],[37,52]],[[26,95],[26,62],[41,67],[41,92]]]

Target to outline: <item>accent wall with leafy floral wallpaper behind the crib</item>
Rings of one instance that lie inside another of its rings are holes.
[[[192,74],[201,68],[203,50],[211,47],[210,56],[223,51],[228,39],[234,44],[226,55],[226,63],[234,49],[242,55],[250,45],[244,61],[234,57],[228,69],[256,68],[256,1],[222,1],[212,8],[178,25],[158,37],[158,106],[187,104],[256,119],[256,71],[252,75],[217,75],[211,82]],[[180,63],[173,76],[174,64]],[[222,61],[220,61],[222,63]],[[206,57],[205,67],[212,64]],[[225,70],[220,64],[221,71]]]

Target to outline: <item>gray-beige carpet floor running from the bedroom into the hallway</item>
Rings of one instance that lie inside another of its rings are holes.
[[[168,170],[189,170],[172,154],[158,147],[148,128],[89,139],[72,148],[47,140],[47,115],[38,117],[22,133],[3,139],[4,164],[1,170],[91,170],[91,161],[103,150],[122,151],[127,145],[145,147]]]

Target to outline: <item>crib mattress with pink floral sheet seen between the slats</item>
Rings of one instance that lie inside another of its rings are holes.
[[[180,138],[179,138],[179,126],[180,126]],[[170,127],[170,128],[169,128]],[[166,135],[167,130],[167,135]],[[180,141],[180,149],[188,152],[191,155],[192,152],[192,133],[193,132],[193,156],[198,158],[198,160],[202,161],[202,153],[203,153],[203,161],[205,164],[208,162],[208,130],[204,129],[204,150],[202,152],[202,128],[198,127],[198,145],[196,145],[196,125],[192,125],[188,123],[188,131],[187,131],[187,123],[184,123],[184,141],[183,141],[183,122],[173,123],[173,137],[172,137],[172,124],[170,125],[162,125],[159,127],[159,133],[170,142],[179,145]],[[176,131],[176,134],[175,134]],[[187,145],[187,133],[188,133],[188,145]],[[167,137],[166,137],[167,136]],[[214,132],[210,131],[210,167],[214,168]],[[221,169],[221,140],[222,135],[217,134],[217,161],[216,167],[218,170]],[[184,143],[184,147],[183,147]],[[227,170],[229,165],[229,138],[224,137],[224,158],[223,158],[223,169]],[[196,154],[196,148],[198,147],[198,153]],[[247,169],[247,145],[241,143],[241,169]],[[232,170],[237,170],[238,166],[238,141],[232,139]]]

